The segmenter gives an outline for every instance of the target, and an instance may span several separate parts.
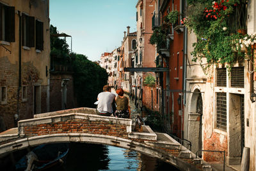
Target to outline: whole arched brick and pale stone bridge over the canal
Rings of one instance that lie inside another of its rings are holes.
[[[0,133],[0,157],[41,144],[84,142],[138,151],[180,170],[215,170],[169,135],[155,133],[145,125],[142,133],[133,128],[131,119],[96,115],[93,108],[38,114],[19,121],[18,128]]]

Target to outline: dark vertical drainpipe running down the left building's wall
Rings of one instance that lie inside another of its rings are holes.
[[[19,14],[19,87],[17,91],[17,115],[14,115],[14,123],[17,125],[19,121],[19,99],[20,99],[20,89],[21,89],[21,13]]]

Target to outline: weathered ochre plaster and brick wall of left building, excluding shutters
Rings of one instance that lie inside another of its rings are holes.
[[[28,119],[34,114],[34,85],[41,86],[41,112],[47,112],[47,85],[50,68],[50,34],[49,34],[49,1],[14,1],[1,0],[3,4],[15,6],[15,11],[26,13],[44,22],[44,50],[36,52],[35,47],[21,48],[21,85],[27,86],[27,99],[22,100],[19,91],[19,108],[17,92],[19,87],[19,15],[15,13],[15,42],[3,42],[0,47],[0,85],[7,87],[7,103],[0,104],[0,116],[4,119],[6,128],[15,126],[14,115],[19,111],[19,119]]]

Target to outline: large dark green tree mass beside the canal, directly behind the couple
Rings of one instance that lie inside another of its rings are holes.
[[[97,101],[97,95],[102,92],[102,87],[107,84],[108,73],[82,54],[73,56],[76,56],[72,66],[78,105],[95,108],[93,103]]]

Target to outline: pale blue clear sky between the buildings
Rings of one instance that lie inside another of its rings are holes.
[[[72,36],[72,50],[97,61],[120,47],[124,31],[136,31],[138,0],[50,0],[51,24]],[[70,38],[67,38],[70,45]],[[108,50],[108,51],[107,51]]]

